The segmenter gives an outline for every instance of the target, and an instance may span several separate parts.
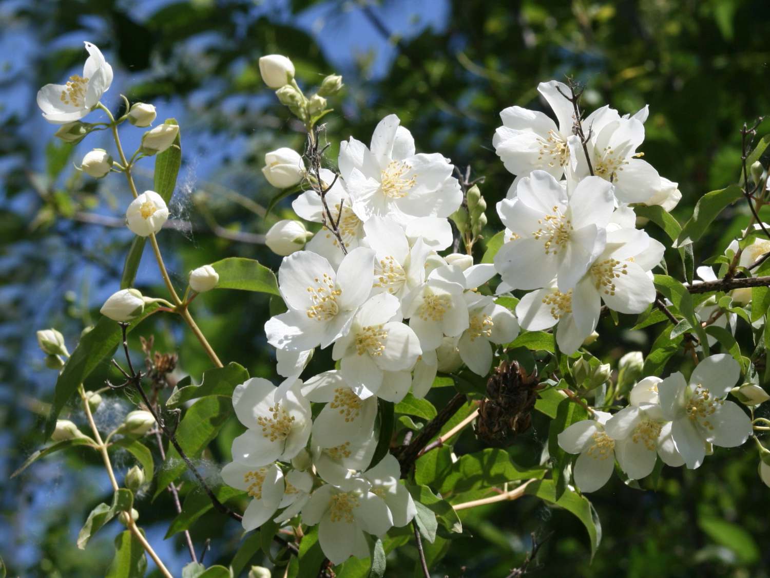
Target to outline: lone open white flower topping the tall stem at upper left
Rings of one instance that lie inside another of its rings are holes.
[[[38,106],[49,123],[66,124],[82,119],[99,104],[112,84],[112,66],[95,45],[84,44],[89,58],[83,66],[83,76],[72,75],[66,84],[46,84],[38,92]]]

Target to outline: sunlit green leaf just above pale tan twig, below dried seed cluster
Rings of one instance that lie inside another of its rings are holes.
[[[438,491],[443,495],[449,492],[468,492],[517,479],[542,478],[545,471],[544,468],[521,468],[504,450],[487,448],[481,452],[465,454],[444,469],[438,476]]]

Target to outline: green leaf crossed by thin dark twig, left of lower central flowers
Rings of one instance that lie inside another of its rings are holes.
[[[176,428],[176,440],[186,455],[192,459],[200,457],[232,412],[233,400],[229,398],[212,395],[195,402]],[[158,474],[158,487],[154,497],[164,492],[166,486],[181,476],[186,468],[187,465],[182,462],[179,452],[170,446],[166,452],[165,465]]]

